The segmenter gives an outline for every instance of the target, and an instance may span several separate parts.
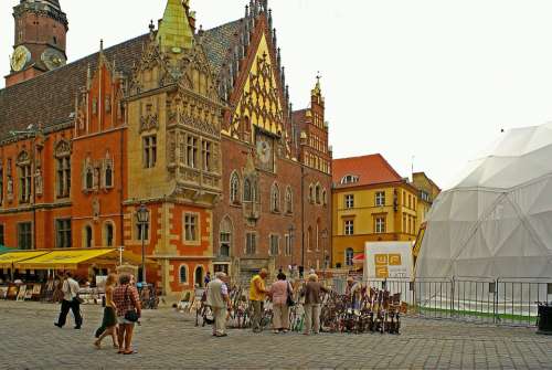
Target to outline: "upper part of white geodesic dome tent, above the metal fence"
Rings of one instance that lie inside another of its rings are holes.
[[[416,276],[552,278],[552,124],[503,134],[438,197]]]

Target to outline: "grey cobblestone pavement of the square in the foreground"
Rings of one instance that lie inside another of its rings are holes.
[[[53,323],[59,306],[0,302],[1,369],[552,369],[552,338],[534,329],[403,320],[401,336],[253,335],[211,337],[172,309],[146,311],[137,355],[93,348],[100,307],[83,307],[83,330]]]

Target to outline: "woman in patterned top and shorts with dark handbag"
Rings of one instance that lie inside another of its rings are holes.
[[[113,293],[113,300],[119,323],[118,339],[119,351],[117,353],[132,355],[132,332],[135,324],[141,316],[140,296],[138,289],[130,284],[130,275],[119,276],[119,286]]]

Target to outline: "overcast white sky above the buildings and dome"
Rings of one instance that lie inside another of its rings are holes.
[[[247,0],[191,0],[205,29]],[[19,0],[0,1],[9,73]],[[70,61],[147,32],[164,0],[61,0]],[[446,184],[501,128],[552,118],[550,0],[272,0],[295,108],[322,75],[336,158],[383,154]],[[3,86],[3,81],[0,83]]]

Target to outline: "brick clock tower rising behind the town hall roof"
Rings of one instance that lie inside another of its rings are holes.
[[[65,65],[68,22],[59,0],[20,0],[13,19],[15,40],[7,87]]]

